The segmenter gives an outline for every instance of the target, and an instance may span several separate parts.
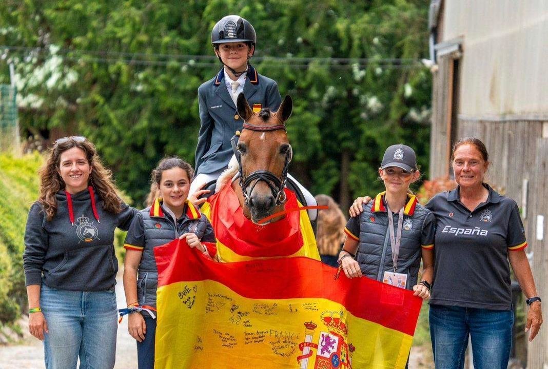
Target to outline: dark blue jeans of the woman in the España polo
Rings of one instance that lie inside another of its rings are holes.
[[[468,336],[475,369],[506,369],[512,344],[512,310],[430,305],[436,369],[462,369]]]

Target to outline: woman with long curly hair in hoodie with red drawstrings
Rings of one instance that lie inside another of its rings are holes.
[[[82,136],[55,141],[39,172],[23,255],[30,333],[44,341],[47,368],[112,369],[117,309],[115,228],[136,212]]]

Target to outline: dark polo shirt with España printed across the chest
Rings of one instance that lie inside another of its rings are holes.
[[[510,310],[508,252],[527,246],[516,201],[489,190],[485,203],[470,211],[459,187],[426,205],[436,217],[431,304]]]

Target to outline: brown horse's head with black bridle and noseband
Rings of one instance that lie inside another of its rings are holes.
[[[284,186],[293,151],[287,139],[285,122],[291,115],[293,101],[287,95],[277,112],[262,109],[255,113],[243,94],[239,94],[236,105],[244,120],[235,145],[243,210],[248,218],[258,223],[283,210],[286,201]]]

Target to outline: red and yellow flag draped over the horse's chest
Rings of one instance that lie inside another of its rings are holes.
[[[286,210],[302,205],[285,189]],[[306,210],[289,211],[282,220],[258,226],[248,220],[230,183],[202,205],[217,239],[216,260],[234,262],[255,258],[306,256],[319,260],[316,238]]]

